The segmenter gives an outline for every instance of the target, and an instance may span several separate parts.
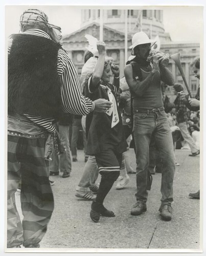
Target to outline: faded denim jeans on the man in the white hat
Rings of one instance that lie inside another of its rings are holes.
[[[161,201],[162,203],[172,202],[175,156],[172,134],[165,111],[153,113],[134,110],[133,131],[136,146],[136,200],[147,201],[149,145],[153,135],[163,161]]]

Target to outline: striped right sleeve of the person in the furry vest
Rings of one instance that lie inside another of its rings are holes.
[[[79,78],[72,60],[66,52],[58,52],[58,74],[61,75],[61,98],[65,113],[87,115],[95,103],[81,94]]]

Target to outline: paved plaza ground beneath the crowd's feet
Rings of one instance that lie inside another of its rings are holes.
[[[153,175],[152,188],[149,191],[147,211],[140,216],[131,216],[130,210],[135,203],[135,174],[130,174],[130,183],[125,189],[116,190],[115,185],[105,199],[105,206],[114,211],[115,218],[101,217],[94,223],[89,217],[89,201],[80,201],[75,197],[75,189],[81,178],[84,157],[78,151],[78,162],[72,163],[72,174],[69,178],[52,176],[55,181],[52,187],[55,198],[55,210],[48,226],[48,231],[36,249],[51,252],[73,251],[102,252],[148,252],[182,251],[191,249],[199,251],[200,239],[200,203],[191,199],[188,194],[199,189],[200,157],[189,157],[190,151],[176,150],[177,162],[174,178],[173,218],[165,222],[159,216],[161,204],[161,174]],[[129,152],[132,166],[135,169],[133,150]],[[100,181],[100,177],[98,178]],[[19,208],[19,193],[16,195]],[[47,248],[47,249],[44,249]],[[164,250],[163,250],[164,249]],[[36,251],[35,250],[35,251]]]

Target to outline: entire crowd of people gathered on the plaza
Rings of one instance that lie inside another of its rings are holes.
[[[199,88],[195,98],[184,93],[167,68],[169,56],[156,52],[146,33],[132,37],[131,56],[120,79],[119,66],[97,41],[86,51],[79,78],[60,45],[61,29],[48,16],[29,9],[20,17],[19,34],[8,44],[8,223],[7,247],[38,248],[54,210],[52,176],[69,178],[78,161],[82,131],[84,168],[75,196],[91,201],[90,218],[115,217],[104,206],[111,187],[123,189],[136,176],[132,216],[147,211],[152,175],[162,173],[163,220],[172,218],[175,149],[187,144],[189,156],[199,151]],[[199,78],[199,57],[191,63]],[[170,102],[166,88],[177,95]],[[183,144],[185,142],[185,144]],[[128,149],[135,152],[136,169]],[[98,176],[101,176],[97,184]],[[71,178],[70,178],[71,179]],[[19,187],[20,186],[20,187]],[[20,188],[20,220],[15,192]],[[197,193],[190,197],[199,198]]]

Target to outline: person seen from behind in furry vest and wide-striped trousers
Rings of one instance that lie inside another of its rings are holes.
[[[78,75],[59,44],[61,29],[48,16],[28,9],[21,33],[8,42],[7,247],[38,248],[54,210],[49,181],[52,152],[65,152],[53,123],[64,113],[87,115],[111,103],[80,93]],[[15,204],[21,180],[22,223]]]

